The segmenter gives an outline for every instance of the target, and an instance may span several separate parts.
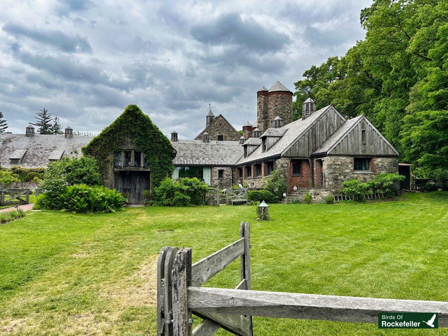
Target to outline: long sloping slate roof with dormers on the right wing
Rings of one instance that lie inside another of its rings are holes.
[[[283,127],[276,128],[284,130],[285,133],[271,148],[263,152],[261,146],[259,146],[249,156],[239,159],[237,164],[249,163],[260,159],[281,155],[289,148],[290,145],[296,142],[296,140],[308,129],[309,126],[311,126],[311,124],[313,124],[314,121],[330,109],[330,107],[332,107],[332,105],[313,112],[309,117],[305,118],[305,120],[300,118],[284,125]]]

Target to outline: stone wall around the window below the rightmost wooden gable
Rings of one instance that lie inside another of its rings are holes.
[[[342,182],[357,179],[367,182],[381,173],[397,173],[398,157],[374,157],[370,160],[370,171],[355,171],[353,157],[327,156],[324,158],[325,187],[333,194],[342,189]]]

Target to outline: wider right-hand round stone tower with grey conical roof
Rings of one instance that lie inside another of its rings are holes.
[[[277,116],[283,120],[283,125],[292,122],[292,96],[293,93],[280,82],[269,89],[267,95],[269,127],[272,127],[270,123]]]

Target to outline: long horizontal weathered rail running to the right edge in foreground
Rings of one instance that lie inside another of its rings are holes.
[[[439,313],[439,326],[448,327],[448,302],[441,301],[189,287],[188,308],[208,314],[360,323],[378,323],[379,312],[429,312]]]

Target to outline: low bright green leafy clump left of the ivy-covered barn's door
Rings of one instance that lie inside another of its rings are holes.
[[[51,196],[50,196],[51,195]],[[53,200],[51,197],[55,197]],[[121,210],[126,199],[115,189],[103,186],[92,187],[77,184],[65,187],[58,195],[41,194],[35,202],[35,209],[66,209],[75,213],[114,213]]]

